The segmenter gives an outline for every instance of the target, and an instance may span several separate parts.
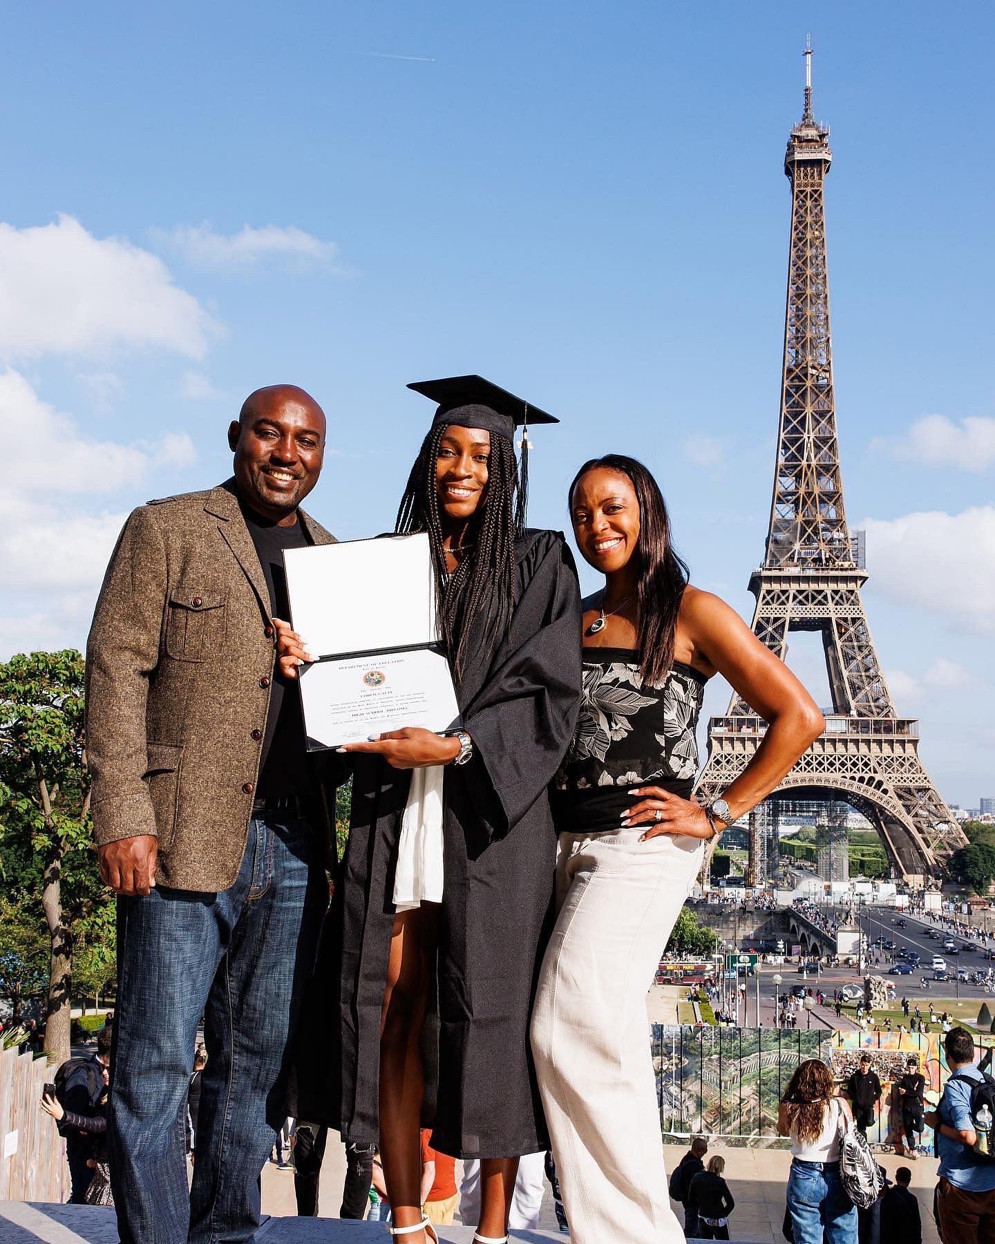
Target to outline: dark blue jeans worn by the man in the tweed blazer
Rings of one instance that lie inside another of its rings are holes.
[[[328,899],[318,861],[307,821],[254,816],[230,889],[118,901],[108,1146],[122,1244],[234,1244],[255,1233]],[[201,1015],[208,1065],[188,1192],[187,1092]]]

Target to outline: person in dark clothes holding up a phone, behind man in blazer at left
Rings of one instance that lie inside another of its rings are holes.
[[[93,1178],[95,1137],[101,1142],[107,1132],[104,1111],[107,1074],[111,1066],[111,1030],[97,1034],[97,1052],[90,1057],[67,1059],[55,1074],[55,1093],[45,1092],[41,1108],[66,1138],[70,1167],[70,1204],[83,1205]]]

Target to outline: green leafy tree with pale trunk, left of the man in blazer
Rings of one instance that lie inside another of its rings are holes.
[[[83,658],[75,649],[34,652],[0,664],[0,886],[41,896],[49,929],[45,1045],[70,1054],[75,938],[106,926],[109,896],[90,836],[83,745]]]

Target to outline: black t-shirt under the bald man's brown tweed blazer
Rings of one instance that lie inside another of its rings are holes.
[[[306,549],[311,544],[303,524],[298,519],[292,527],[281,527],[277,522],[250,510],[248,505],[243,505],[241,511],[270,591],[270,615],[290,621],[282,554],[285,549]],[[270,712],[262,735],[256,796],[264,799],[279,795],[308,795],[312,791],[313,779],[305,744],[301,690],[296,679],[289,682],[277,666],[270,688]]]

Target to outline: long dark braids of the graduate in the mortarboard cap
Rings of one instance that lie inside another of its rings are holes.
[[[480,653],[490,659],[515,602],[515,537],[525,526],[525,485],[506,437],[491,434],[488,493],[466,527],[470,547],[449,575],[443,549],[435,462],[448,424],[438,423],[422,442],[397,511],[394,531],[427,531],[435,567],[435,598],[449,664],[459,677],[469,654],[474,621],[484,615]]]

